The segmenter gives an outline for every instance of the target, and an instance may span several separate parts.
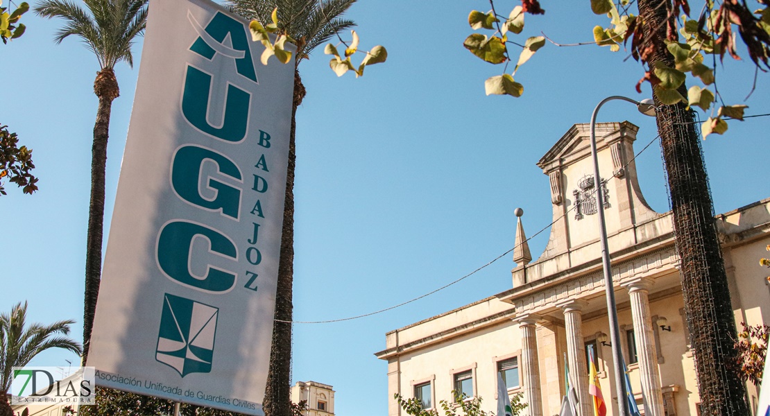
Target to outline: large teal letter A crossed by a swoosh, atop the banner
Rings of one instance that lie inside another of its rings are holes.
[[[229,17],[223,12],[216,12],[216,15],[211,19],[211,22],[206,25],[206,34],[210,35],[211,39],[218,42],[219,45],[209,45],[206,40],[199,37],[190,47],[192,52],[196,52],[198,55],[211,60],[214,58],[214,55],[216,55],[216,50],[223,49],[223,42],[225,38],[227,38],[227,35],[229,35],[230,42],[233,44],[232,49],[241,52],[239,55],[242,56],[235,58],[233,54],[230,53],[225,55],[235,59],[236,71],[240,75],[256,82],[256,72],[254,71],[254,62],[251,58],[249,38],[247,37],[248,34],[246,28],[243,27],[242,23]]]

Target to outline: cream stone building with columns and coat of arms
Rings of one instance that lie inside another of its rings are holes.
[[[508,394],[524,394],[524,414],[558,414],[565,363],[579,412],[591,415],[588,348],[608,414],[618,414],[588,127],[574,125],[537,162],[550,180],[554,224],[543,254],[532,261],[519,218],[512,288],[386,334],[386,349],[376,355],[388,362],[389,416],[403,414],[394,393],[434,407],[451,401],[453,389],[480,395],[483,408],[493,410],[498,373]],[[671,212],[653,211],[641,195],[633,150],[638,128],[625,121],[599,123],[596,131],[631,390],[643,414],[698,414]],[[770,244],[770,198],[718,215],[717,225],[738,328],[770,324],[770,288],[758,266]],[[757,391],[748,388],[755,408]]]

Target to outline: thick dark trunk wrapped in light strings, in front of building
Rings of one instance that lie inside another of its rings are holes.
[[[669,16],[669,10],[668,0],[639,1],[644,38],[655,42],[650,67],[655,62],[675,66],[663,42],[667,33],[665,22],[676,17]],[[657,28],[657,37],[649,32],[653,28]],[[685,85],[681,85],[679,92],[687,96]],[[656,97],[655,105],[671,190],[685,314],[695,350],[701,414],[749,414],[745,384],[730,365],[738,355],[734,345],[735,317],[695,117],[681,102],[661,105]]]

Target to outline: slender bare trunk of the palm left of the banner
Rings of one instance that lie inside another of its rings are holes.
[[[94,125],[91,155],[91,202],[89,203],[89,231],[85,247],[85,305],[83,311],[83,358],[88,358],[91,331],[102,275],[102,231],[104,228],[105,167],[107,139],[112,100],[118,97],[118,82],[112,68],[102,69],[94,81],[94,93],[99,98]]]

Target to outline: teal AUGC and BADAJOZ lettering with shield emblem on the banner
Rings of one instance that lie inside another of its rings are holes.
[[[208,61],[213,61],[216,55],[221,55],[219,59],[232,59],[230,62],[234,62],[238,77],[243,79],[226,82],[225,108],[221,124],[212,124],[207,118],[209,106],[212,105],[209,95],[211,88],[218,88],[214,85],[221,84],[214,83],[216,73],[204,72],[189,62],[186,64],[179,112],[200,136],[190,136],[188,143],[176,149],[171,160],[169,179],[173,192],[186,204],[203,211],[219,212],[219,218],[225,218],[224,221],[240,222],[244,198],[244,175],[241,167],[226,155],[193,141],[206,143],[214,138],[237,146],[250,137],[248,125],[251,94],[235,85],[243,82],[253,85],[257,83],[249,52],[249,39],[243,23],[222,12],[217,12],[205,29],[199,25],[192,13],[188,12],[187,17],[198,34],[189,52]],[[225,45],[228,42],[232,47]],[[269,135],[266,132],[259,131],[258,140],[259,146],[269,148]],[[239,151],[236,148],[233,150]],[[216,178],[203,177],[202,167],[210,163],[216,165]],[[259,158],[256,168],[269,172],[264,155]],[[253,191],[256,195],[263,195],[267,189],[267,180],[259,175],[253,176]],[[202,195],[204,188],[208,196]],[[210,195],[213,195],[213,198]],[[255,215],[255,218],[264,218],[259,200],[256,200],[254,206],[252,215]],[[259,224],[254,222],[253,229],[253,241],[249,240],[249,245],[256,245]],[[192,248],[193,241],[200,238],[207,241],[207,251]],[[176,218],[167,221],[159,230],[156,260],[163,275],[179,287],[193,289],[207,296],[225,295],[235,288],[238,278],[236,271],[209,265],[204,275],[194,275],[190,270],[189,260],[216,256],[229,259],[233,261],[233,266],[236,266],[239,260],[238,251],[236,242],[222,231],[210,225]],[[247,248],[245,255],[250,265],[259,265],[261,254],[256,247]],[[249,291],[256,291],[256,271],[244,273],[249,278],[244,287]],[[156,360],[174,368],[182,377],[191,373],[211,372],[218,318],[219,308],[166,293],[163,298]]]

